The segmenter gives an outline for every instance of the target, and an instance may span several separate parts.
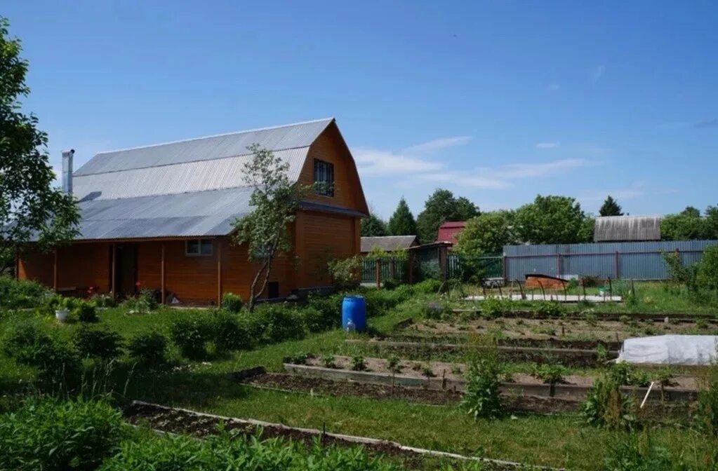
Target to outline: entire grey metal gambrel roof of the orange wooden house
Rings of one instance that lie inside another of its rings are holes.
[[[102,152],[73,173],[77,239],[225,235],[250,211],[243,165],[257,143],[297,181],[309,146],[334,118]],[[337,211],[356,212],[332,208]]]

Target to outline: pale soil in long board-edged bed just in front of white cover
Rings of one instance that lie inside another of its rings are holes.
[[[325,368],[326,365],[322,361],[322,358],[310,357],[307,358],[308,366],[320,366]],[[349,356],[334,356],[335,368],[351,370],[353,369],[353,358]],[[462,381],[464,379],[467,366],[463,363],[448,363],[445,361],[409,361],[399,360],[398,371],[391,371],[388,368],[388,362],[383,358],[364,358],[365,369],[362,371],[370,371],[373,373],[385,373],[385,374],[396,374],[398,376],[408,376],[411,378],[426,379],[426,368],[431,371],[432,378],[442,378],[449,381]],[[567,375],[564,376],[564,381],[561,384],[573,384],[576,386],[591,386],[593,384],[594,377],[592,376],[579,376],[579,375]],[[509,378],[505,378],[504,381],[521,383],[521,384],[544,384],[544,381],[538,379],[530,374],[515,373],[511,374]],[[693,376],[680,376],[676,375],[671,379],[672,387],[681,389],[695,390],[698,388],[696,378]]]

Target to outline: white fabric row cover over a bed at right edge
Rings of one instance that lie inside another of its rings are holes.
[[[665,365],[709,365],[718,361],[718,336],[627,338],[618,361]]]

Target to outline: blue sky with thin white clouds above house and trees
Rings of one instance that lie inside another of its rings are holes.
[[[715,1],[4,2],[52,162],[335,116],[383,217],[437,187],[718,204]]]

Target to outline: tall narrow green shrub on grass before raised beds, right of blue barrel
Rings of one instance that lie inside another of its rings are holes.
[[[498,351],[495,343],[479,346],[469,364],[461,405],[474,419],[498,419],[503,415],[499,394]]]

